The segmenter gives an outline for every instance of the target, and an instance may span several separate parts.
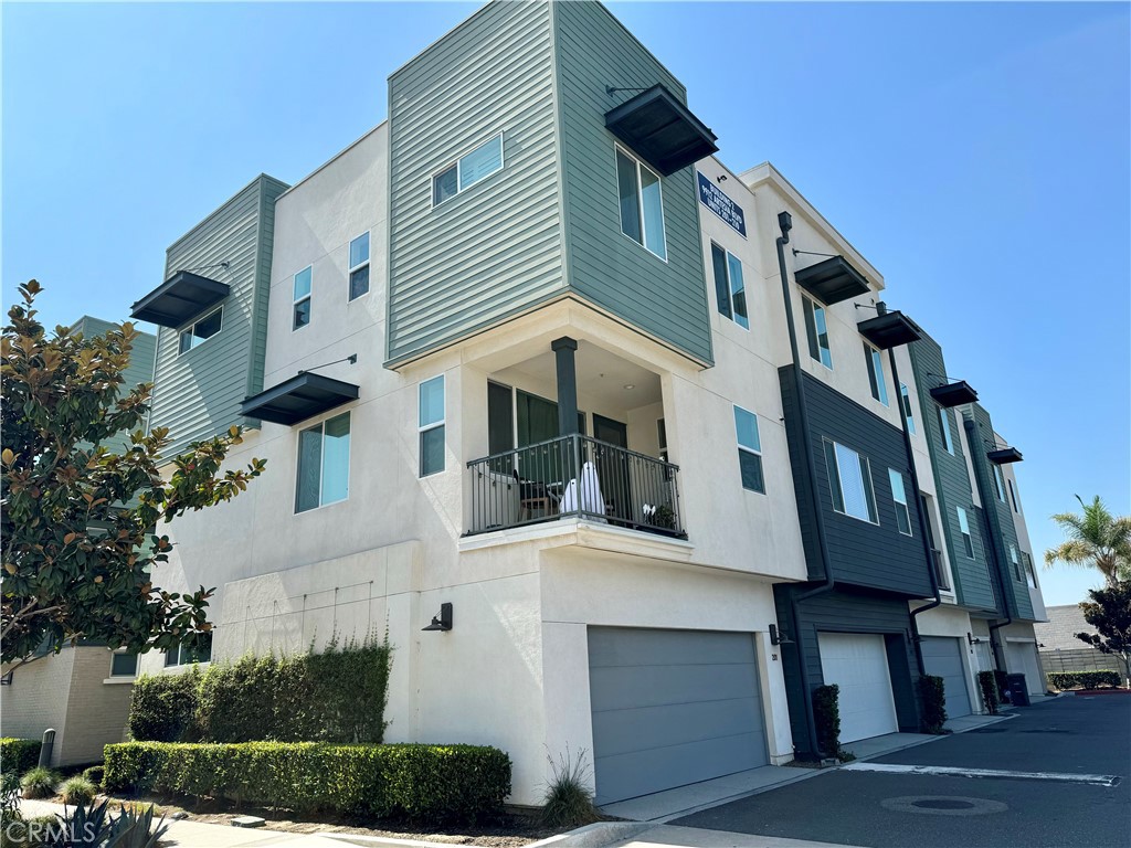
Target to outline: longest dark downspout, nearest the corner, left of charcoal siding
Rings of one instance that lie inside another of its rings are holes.
[[[793,360],[793,383],[794,393],[797,397],[797,417],[800,418],[802,434],[805,440],[804,450],[801,451],[805,462],[805,475],[809,478],[810,507],[813,510],[814,527],[817,529],[817,546],[821,555],[821,568],[824,571],[824,580],[819,586],[801,594],[789,592],[789,614],[793,617],[794,635],[797,642],[797,666],[801,677],[801,694],[805,706],[805,726],[809,730],[810,751],[820,754],[820,744],[817,741],[817,722],[813,718],[813,691],[812,681],[809,676],[808,664],[805,663],[804,649],[801,639],[801,611],[800,605],[804,600],[823,595],[832,590],[835,581],[832,579],[832,563],[829,559],[828,540],[824,535],[824,516],[821,512],[821,499],[817,493],[817,464],[813,459],[813,444],[809,430],[809,404],[805,400],[804,375],[801,371],[801,355],[797,349],[797,330],[793,322],[793,297],[789,289],[789,271],[785,263],[785,245],[789,243],[789,231],[793,230],[793,217],[787,211],[778,213],[778,228],[782,235],[777,237],[778,251],[778,274],[782,277],[782,302],[785,306],[785,326],[789,331],[789,355]]]

